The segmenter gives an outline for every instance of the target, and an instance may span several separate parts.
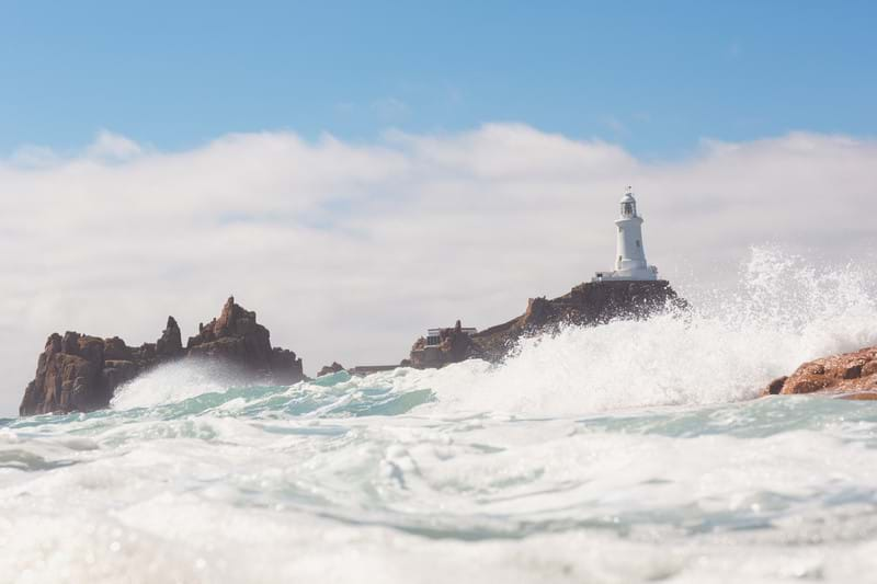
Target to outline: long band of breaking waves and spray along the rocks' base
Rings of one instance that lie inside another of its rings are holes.
[[[805,360],[877,344],[877,305],[866,270],[817,270],[801,257],[754,249],[741,272],[736,289],[701,293],[687,311],[566,327],[523,340],[497,366],[470,360],[365,378],[337,374],[293,388],[242,391],[234,371],[178,363],[135,380],[113,406],[172,403],[230,388],[224,408],[248,412],[261,404],[299,414],[362,415],[391,403],[406,412],[421,406],[580,415],[751,399]]]

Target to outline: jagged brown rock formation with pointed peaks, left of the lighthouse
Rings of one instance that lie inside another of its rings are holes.
[[[202,357],[234,364],[253,378],[294,383],[303,379],[301,359],[272,347],[270,333],[255,312],[229,298],[219,318],[198,327],[182,345],[173,317],[155,343],[129,347],[117,336],[99,339],[76,332],[53,333],[39,355],[36,377],[24,390],[19,413],[89,412],[106,408],[121,385],[160,363]]]

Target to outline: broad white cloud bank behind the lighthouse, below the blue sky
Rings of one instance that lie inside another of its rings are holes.
[[[374,144],[238,134],[160,152],[110,133],[0,161],[0,414],[53,331],[153,341],[229,294],[306,370],[397,362],[423,329],[486,327],[611,266],[633,184],[649,260],[685,291],[751,244],[873,249],[877,144],[796,133],[704,141],[684,161],[521,124]]]

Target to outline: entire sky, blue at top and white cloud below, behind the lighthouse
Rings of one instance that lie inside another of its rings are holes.
[[[873,7],[0,0],[0,415],[50,332],[229,294],[309,374],[398,363],[608,268],[628,184],[690,299],[787,252],[873,282]]]

